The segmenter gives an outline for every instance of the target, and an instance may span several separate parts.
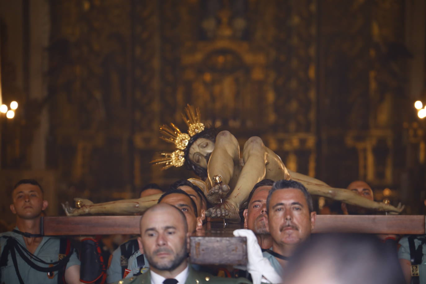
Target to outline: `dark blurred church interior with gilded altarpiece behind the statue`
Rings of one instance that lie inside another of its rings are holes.
[[[66,216],[199,178],[151,163],[188,104],[241,158],[258,136],[293,172],[426,215],[425,82],[424,0],[0,0],[0,232],[22,179]]]

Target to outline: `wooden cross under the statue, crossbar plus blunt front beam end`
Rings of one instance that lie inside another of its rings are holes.
[[[141,216],[44,217],[44,235],[139,234]],[[207,222],[190,237],[190,261],[194,264],[246,265],[245,238],[233,237],[239,224],[225,227]],[[423,215],[318,215],[314,233],[425,234]]]

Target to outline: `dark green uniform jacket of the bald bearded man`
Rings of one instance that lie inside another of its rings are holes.
[[[151,275],[149,272],[132,276],[116,282],[117,284],[151,284]],[[246,278],[223,278],[210,275],[208,273],[198,272],[192,267],[189,267],[189,274],[185,284],[211,284],[211,283],[229,283],[229,284],[250,284]]]

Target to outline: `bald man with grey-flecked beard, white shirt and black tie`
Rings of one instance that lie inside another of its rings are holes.
[[[140,226],[139,249],[146,256],[150,271],[118,283],[250,283],[243,278],[220,278],[193,270],[187,261],[190,232],[180,209],[157,204],[145,212]]]

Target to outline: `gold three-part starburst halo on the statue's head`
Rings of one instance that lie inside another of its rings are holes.
[[[170,126],[165,124],[160,126],[160,132],[164,135],[160,138],[164,141],[175,144],[175,147],[178,150],[174,152],[161,152],[160,154],[163,157],[150,161],[150,163],[165,164],[162,169],[184,165],[185,153],[182,150],[187,149],[191,137],[205,129],[204,123],[201,123],[201,115],[198,107],[195,108],[194,106],[187,104],[185,107],[185,114],[182,113],[182,118],[188,126],[188,133],[181,132],[181,130],[173,123],[170,123]]]

